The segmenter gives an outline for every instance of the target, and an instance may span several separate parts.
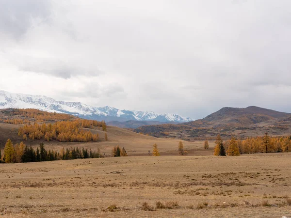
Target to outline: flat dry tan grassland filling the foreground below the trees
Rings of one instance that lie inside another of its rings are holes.
[[[290,153],[2,164],[0,215],[291,217],[290,166]]]

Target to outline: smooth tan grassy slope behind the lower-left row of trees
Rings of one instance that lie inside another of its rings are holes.
[[[15,144],[22,141],[17,136],[18,128],[20,125],[12,124],[0,124],[0,139],[2,140],[2,149],[5,142],[10,138]],[[86,129],[86,128],[84,128]],[[108,141],[104,140],[105,132],[97,127],[95,129],[86,129],[92,131],[94,134],[98,134],[100,141],[98,142],[59,142],[56,140],[28,140],[24,141],[26,145],[31,145],[36,148],[40,142],[44,142],[46,149],[52,149],[59,151],[63,147],[84,147],[97,151],[99,147],[102,153],[107,155],[111,154],[111,150],[114,146],[119,145],[124,147],[129,156],[148,155],[148,151],[152,152],[153,144],[158,144],[158,149],[162,155],[177,155],[178,154],[178,142],[180,140],[155,138],[152,136],[146,136],[132,132],[127,129],[118,128],[114,126],[107,127]],[[189,155],[212,155],[214,142],[210,141],[210,149],[203,149],[204,141],[183,141],[185,150],[189,152]],[[1,146],[0,146],[1,147]]]

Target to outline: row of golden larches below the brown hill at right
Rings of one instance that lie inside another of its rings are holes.
[[[215,156],[239,156],[242,154],[290,152],[291,136],[272,137],[265,133],[261,137],[249,137],[237,140],[234,136],[223,141],[220,135],[215,140]]]

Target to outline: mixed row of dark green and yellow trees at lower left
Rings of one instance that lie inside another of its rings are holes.
[[[4,154],[1,155],[0,150],[1,163],[27,163],[103,157],[99,148],[97,149],[97,152],[92,151],[91,149],[88,151],[88,149],[78,147],[62,148],[60,152],[57,152],[45,149],[44,143],[40,143],[35,150],[31,146],[26,146],[23,141],[21,141],[20,144],[17,143],[14,145],[10,139],[6,141],[3,153]]]

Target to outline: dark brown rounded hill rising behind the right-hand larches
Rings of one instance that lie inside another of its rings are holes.
[[[279,112],[255,106],[247,108],[222,108],[207,117],[179,125],[147,125],[136,128],[156,137],[182,139],[213,138],[238,135],[242,138],[263,135],[288,135],[291,129],[291,113]]]

